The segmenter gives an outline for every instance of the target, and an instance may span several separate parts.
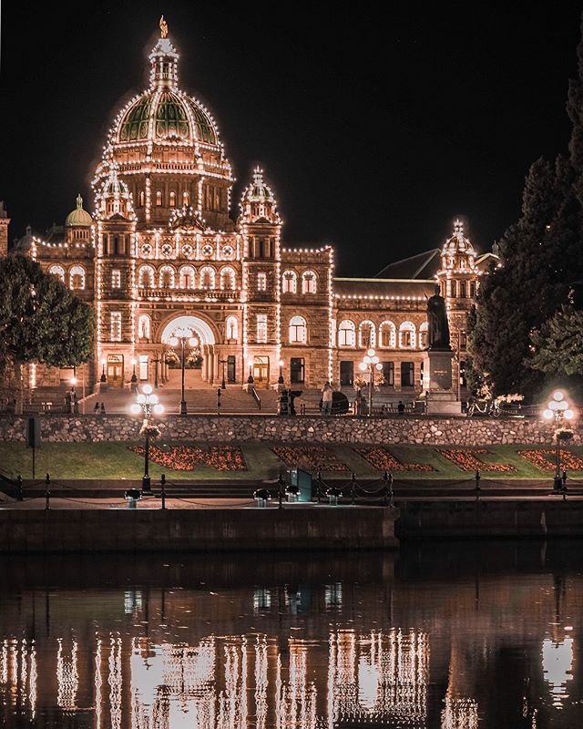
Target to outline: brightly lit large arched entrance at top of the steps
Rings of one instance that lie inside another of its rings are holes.
[[[173,342],[174,338],[179,343]],[[165,374],[170,387],[180,386],[182,342],[184,342],[184,385],[197,387],[212,383],[215,371],[215,335],[210,324],[199,316],[183,315],[172,319],[162,329]]]

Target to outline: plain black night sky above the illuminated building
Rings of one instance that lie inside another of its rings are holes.
[[[336,248],[338,275],[440,245],[455,216],[489,250],[529,165],[568,145],[583,2],[2,4],[0,200],[62,223],[107,128],[148,86],[159,16],[180,87],[217,120],[237,182],[261,163],[288,245]],[[87,204],[91,210],[92,205]]]

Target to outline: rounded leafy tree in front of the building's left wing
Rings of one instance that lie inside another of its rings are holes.
[[[63,367],[93,354],[94,311],[21,254],[0,259],[0,374],[22,385],[24,364]]]

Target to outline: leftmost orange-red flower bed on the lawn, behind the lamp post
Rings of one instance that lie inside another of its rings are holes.
[[[145,449],[143,446],[135,446],[129,450],[143,456]],[[176,446],[168,449],[150,446],[148,457],[159,466],[173,471],[194,471],[197,466],[210,466],[218,471],[247,470],[242,451],[231,446],[211,446],[209,450],[197,446]]]

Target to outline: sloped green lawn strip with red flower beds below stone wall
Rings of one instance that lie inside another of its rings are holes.
[[[142,476],[143,443],[44,443],[36,450],[36,478],[131,478]],[[137,448],[135,452],[133,448]],[[526,455],[520,452],[527,451]],[[541,456],[541,451],[546,451]],[[568,477],[583,480],[583,447],[565,449],[562,466]],[[236,459],[233,459],[236,456]],[[158,462],[157,462],[158,461]],[[235,466],[232,464],[235,463]],[[162,473],[177,479],[237,479],[258,482],[277,478],[282,470],[299,467],[314,477],[382,478],[384,470],[399,479],[515,480],[552,477],[552,448],[489,446],[482,448],[428,446],[365,446],[356,444],[251,443],[240,447],[208,444],[157,444],[150,453],[153,479]],[[238,470],[231,470],[239,467]],[[20,443],[0,443],[0,474],[32,477],[32,450]]]

